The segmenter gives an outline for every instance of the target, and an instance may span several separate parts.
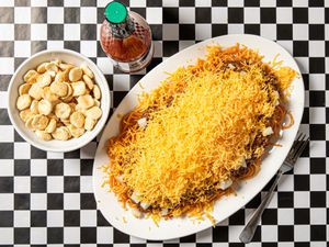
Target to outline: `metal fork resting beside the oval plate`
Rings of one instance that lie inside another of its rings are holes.
[[[299,133],[297,138],[295,139],[287,157],[285,158],[284,162],[280,167],[275,180],[273,184],[271,186],[268,194],[262,200],[261,204],[258,206],[258,209],[252,214],[251,218],[249,220],[248,224],[242,229],[239,238],[242,243],[248,244],[251,242],[256,228],[258,226],[258,223],[260,222],[260,218],[265,210],[265,207],[269,205],[273,191],[275,187],[277,186],[280,179],[282,178],[282,175],[292,170],[294,168],[294,165],[296,164],[298,157],[302,155],[303,150],[309,143],[309,137],[306,134]]]

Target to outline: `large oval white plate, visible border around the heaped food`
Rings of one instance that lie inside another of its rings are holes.
[[[207,220],[197,223],[188,217],[162,220],[159,226],[156,226],[150,218],[134,217],[129,210],[125,211],[122,207],[113,192],[107,192],[106,188],[101,187],[105,175],[99,168],[109,162],[106,141],[118,133],[120,119],[117,114],[124,115],[129,112],[137,104],[137,96],[141,91],[150,91],[157,88],[159,82],[167,77],[164,71],[174,71],[180,66],[193,64],[196,58],[205,55],[206,45],[215,43],[224,47],[232,46],[236,43],[243,44],[258,49],[260,54],[264,55],[264,61],[273,60],[274,56],[279,54],[279,59],[284,61],[283,65],[290,66],[299,72],[297,64],[284,48],[272,41],[254,35],[226,35],[204,41],[175,54],[148,72],[140,80],[145,89],[141,89],[138,85],[135,86],[109,121],[101,137],[93,165],[93,190],[98,207],[114,227],[126,234],[160,240],[186,236],[212,226],[212,223]],[[280,139],[282,147],[272,149],[271,154],[262,161],[260,172],[254,178],[241,182],[242,184],[236,197],[231,194],[215,203],[213,215],[216,223],[229,217],[245,206],[270,181],[285,159],[298,131],[304,110],[304,82],[302,77],[295,79],[293,85],[290,110],[294,115],[295,124],[284,131],[283,138]]]

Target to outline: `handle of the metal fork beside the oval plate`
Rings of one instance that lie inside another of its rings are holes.
[[[240,242],[248,244],[251,242],[256,228],[258,226],[258,223],[260,222],[260,218],[264,212],[264,210],[266,209],[266,206],[269,205],[272,195],[273,195],[273,191],[275,189],[275,187],[277,186],[281,177],[282,177],[283,172],[281,170],[279,170],[279,172],[276,173],[276,178],[273,182],[273,184],[271,186],[268,194],[263,198],[261,204],[258,206],[258,209],[254,211],[254,213],[252,214],[251,218],[249,220],[248,224],[245,226],[245,228],[242,229],[239,238]]]

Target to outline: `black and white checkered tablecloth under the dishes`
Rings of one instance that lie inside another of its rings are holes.
[[[238,235],[263,193],[216,228],[164,243],[146,242],[114,229],[97,210],[91,186],[97,142],[71,153],[45,153],[25,143],[11,125],[9,80],[38,50],[65,47],[90,57],[107,78],[113,108],[145,75],[116,71],[102,52],[98,37],[107,2],[0,0],[0,245],[242,246]],[[274,40],[296,58],[307,89],[302,130],[310,135],[310,148],[284,176],[249,246],[326,246],[329,8],[325,7],[329,1],[124,2],[151,26],[156,53],[147,71],[197,41],[234,33]]]

